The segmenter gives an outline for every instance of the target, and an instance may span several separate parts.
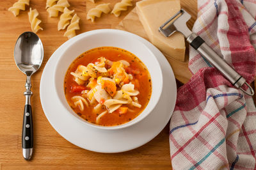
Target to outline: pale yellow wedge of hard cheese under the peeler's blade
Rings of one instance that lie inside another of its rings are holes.
[[[170,37],[163,36],[158,28],[180,10],[179,0],[144,0],[136,4],[140,21],[150,42],[162,52],[179,61],[185,59],[184,36],[175,32]]]

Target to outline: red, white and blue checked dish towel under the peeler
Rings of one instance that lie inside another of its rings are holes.
[[[193,32],[246,79],[255,77],[256,0],[198,0]],[[256,169],[256,109],[216,68],[189,49],[191,80],[170,121],[173,169]]]

